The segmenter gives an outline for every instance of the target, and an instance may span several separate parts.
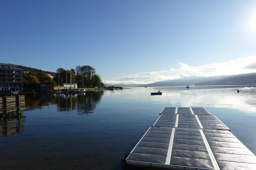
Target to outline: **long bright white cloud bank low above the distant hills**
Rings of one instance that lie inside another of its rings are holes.
[[[178,68],[170,68],[163,71],[152,71],[148,73],[137,73],[114,77],[104,80],[108,84],[147,84],[155,81],[165,81],[179,79],[188,76],[216,76],[216,75],[235,75],[242,73],[256,72],[256,56],[243,57],[224,63],[213,63],[201,66],[190,66],[186,63],[179,63]]]

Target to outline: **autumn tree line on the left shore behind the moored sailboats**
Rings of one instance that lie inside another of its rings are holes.
[[[72,81],[72,82],[71,82]],[[41,89],[46,87],[53,89],[58,84],[77,83],[77,87],[85,89],[93,89],[94,87],[104,88],[105,85],[101,80],[99,74],[96,73],[95,68],[90,65],[78,65],[75,69],[56,69],[56,73],[43,73],[41,70],[28,72],[23,71],[22,82],[25,89]]]

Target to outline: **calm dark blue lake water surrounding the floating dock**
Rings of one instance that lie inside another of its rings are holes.
[[[158,89],[163,95],[150,95]],[[20,121],[9,119],[8,132],[0,121],[0,169],[119,170],[163,107],[191,106],[208,109],[256,154],[256,87],[136,87],[27,95]]]

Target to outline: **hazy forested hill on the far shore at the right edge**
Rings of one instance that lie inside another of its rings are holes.
[[[256,84],[256,73],[232,75],[223,79],[203,81],[195,85],[252,85]]]

